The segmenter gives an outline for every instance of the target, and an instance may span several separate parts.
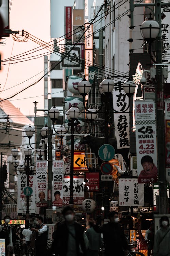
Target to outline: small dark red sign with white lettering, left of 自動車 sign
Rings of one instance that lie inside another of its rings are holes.
[[[88,191],[99,191],[99,173],[86,173]]]

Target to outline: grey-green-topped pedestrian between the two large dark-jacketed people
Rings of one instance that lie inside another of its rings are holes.
[[[87,256],[98,256],[98,251],[101,246],[101,234],[97,233],[90,223],[90,228],[86,231],[89,246]]]

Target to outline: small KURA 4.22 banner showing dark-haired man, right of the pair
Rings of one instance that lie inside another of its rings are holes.
[[[53,161],[53,190],[52,205],[63,205],[63,177],[64,177],[64,161]]]

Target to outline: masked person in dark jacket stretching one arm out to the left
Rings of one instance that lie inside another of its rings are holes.
[[[101,228],[99,228],[95,220],[91,220],[91,223],[97,233],[103,233],[105,256],[124,256],[127,254],[128,243],[124,231],[118,223],[119,218],[117,212],[110,212],[109,220],[109,223],[104,224]]]

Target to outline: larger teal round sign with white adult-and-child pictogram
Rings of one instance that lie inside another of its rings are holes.
[[[115,156],[115,149],[112,145],[104,144],[99,148],[98,154],[103,161],[110,161]]]

